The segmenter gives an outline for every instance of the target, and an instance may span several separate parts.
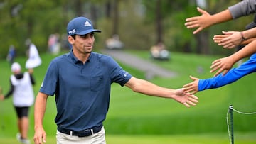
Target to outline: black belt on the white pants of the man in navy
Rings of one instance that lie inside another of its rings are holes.
[[[86,136],[90,136],[94,133],[98,133],[102,129],[102,126],[87,129],[87,130],[83,130],[83,131],[72,131],[72,130],[68,130],[68,129],[65,129],[65,128],[59,128],[59,127],[57,129],[60,133],[65,133],[67,135],[71,135],[71,136],[75,135],[75,136],[78,136],[78,137],[86,137]]]

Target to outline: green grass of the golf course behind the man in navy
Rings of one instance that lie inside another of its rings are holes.
[[[149,52],[129,51],[149,60]],[[34,71],[36,77],[35,94],[43,80],[50,60],[55,57],[41,54],[43,64]],[[167,62],[153,61],[156,65],[173,70],[178,74],[175,78],[155,77],[151,82],[163,87],[179,88],[191,82],[189,75],[199,78],[212,77],[210,63],[218,56],[171,53]],[[26,57],[18,57],[23,65]],[[122,65],[122,64],[120,64]],[[1,81],[4,93],[9,89],[9,63],[0,62]],[[144,72],[122,65],[125,70],[139,78]],[[200,67],[203,71],[198,71]],[[198,106],[187,109],[171,99],[159,99],[132,92],[127,87],[112,84],[110,109],[105,121],[108,143],[228,143],[226,113],[228,106],[244,112],[256,111],[255,74],[247,75],[233,84],[219,89],[209,89],[196,94],[200,99]],[[0,143],[16,143],[16,116],[11,104],[12,99],[0,103]],[[30,138],[33,138],[33,107],[30,111]],[[56,126],[54,97],[48,99],[44,128],[48,135],[48,143],[55,143]],[[256,116],[234,113],[235,143],[256,142]],[[14,141],[12,141],[14,139]],[[6,141],[2,141],[6,140]]]

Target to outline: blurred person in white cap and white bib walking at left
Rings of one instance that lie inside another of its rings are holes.
[[[13,95],[13,104],[18,117],[18,133],[16,135],[18,141],[23,144],[30,143],[28,140],[28,128],[29,128],[29,108],[34,102],[33,84],[35,80],[33,78],[33,69],[29,69],[28,72],[21,72],[21,65],[18,62],[14,62],[11,65],[10,77],[10,89],[7,94],[1,94],[0,99],[9,98]]]

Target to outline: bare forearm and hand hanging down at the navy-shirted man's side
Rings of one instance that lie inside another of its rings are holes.
[[[48,95],[38,92],[36,96],[34,116],[35,116],[35,134],[34,134],[34,142],[36,144],[46,143],[46,132],[43,129],[43,116],[46,112],[46,101]]]

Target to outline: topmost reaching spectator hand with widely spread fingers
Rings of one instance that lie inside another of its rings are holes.
[[[203,28],[213,25],[213,21],[211,20],[212,15],[210,15],[207,11],[203,11],[203,9],[200,9],[199,7],[197,7],[197,10],[202,15],[186,18],[185,23],[186,28],[197,28],[196,31],[193,31],[193,34],[202,31]]]

